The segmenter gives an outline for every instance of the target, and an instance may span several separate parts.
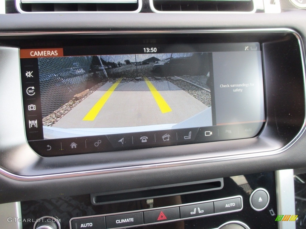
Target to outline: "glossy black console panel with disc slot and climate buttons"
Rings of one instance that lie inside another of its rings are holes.
[[[34,224],[34,228],[40,228],[48,220],[58,222],[62,229],[249,229],[263,224],[278,228],[275,190],[274,173],[260,173],[146,190],[26,201],[21,202],[22,217],[29,222],[23,222],[23,228],[32,229]]]

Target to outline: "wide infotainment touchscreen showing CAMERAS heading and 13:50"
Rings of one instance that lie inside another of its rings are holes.
[[[21,49],[25,128],[44,156],[256,136],[259,43]]]

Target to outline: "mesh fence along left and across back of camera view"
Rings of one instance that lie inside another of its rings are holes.
[[[207,53],[204,54],[155,53],[39,58],[42,116],[45,118],[50,115],[72,100],[74,95],[102,82],[103,78],[109,78],[110,81],[110,78],[137,80],[143,76],[162,76],[163,72],[163,75],[173,75],[176,71],[181,75],[195,75],[196,69],[202,69],[200,66],[207,62]],[[166,64],[167,62],[170,64]]]

